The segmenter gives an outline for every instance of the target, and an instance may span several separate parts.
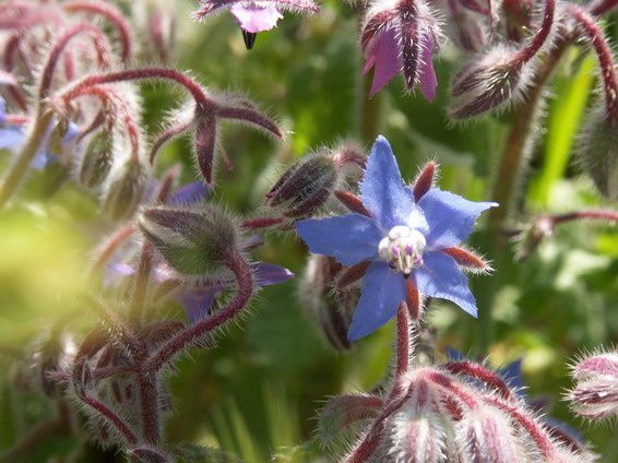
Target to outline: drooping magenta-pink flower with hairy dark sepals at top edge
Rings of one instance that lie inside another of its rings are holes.
[[[360,37],[365,55],[363,73],[373,68],[369,97],[402,72],[408,92],[418,84],[425,98],[433,99],[438,86],[433,52],[439,35],[433,13],[421,0],[372,5]]]

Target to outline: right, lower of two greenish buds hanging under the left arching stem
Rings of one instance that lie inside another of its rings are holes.
[[[139,161],[127,161],[107,186],[103,209],[114,219],[133,214],[146,186],[145,167]]]

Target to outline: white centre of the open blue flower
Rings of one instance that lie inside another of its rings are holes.
[[[405,225],[391,228],[378,246],[378,253],[389,266],[407,278],[414,269],[423,265],[423,250],[427,241],[423,234]]]

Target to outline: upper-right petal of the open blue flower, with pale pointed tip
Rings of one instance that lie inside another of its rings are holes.
[[[439,188],[429,190],[418,202],[429,224],[428,249],[457,246],[465,240],[483,211],[497,206],[494,202],[473,202]]]

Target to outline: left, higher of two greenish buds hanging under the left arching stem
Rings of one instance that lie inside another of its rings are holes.
[[[90,141],[80,166],[80,181],[86,188],[96,188],[104,182],[114,162],[114,136],[103,130]]]

